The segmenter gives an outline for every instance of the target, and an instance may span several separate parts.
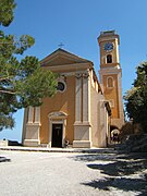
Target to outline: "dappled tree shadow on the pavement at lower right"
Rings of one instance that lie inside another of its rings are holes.
[[[88,162],[89,169],[99,170],[105,174],[105,179],[82,183],[83,185],[103,191],[115,188],[135,192],[139,196],[147,195],[147,154],[145,152],[78,155],[74,160]]]

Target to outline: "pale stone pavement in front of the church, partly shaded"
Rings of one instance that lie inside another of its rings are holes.
[[[0,150],[8,160],[0,162],[1,196],[147,195],[146,154],[13,149]]]

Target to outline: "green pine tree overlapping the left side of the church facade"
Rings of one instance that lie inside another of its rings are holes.
[[[14,0],[0,0],[0,25],[10,25],[15,7]],[[44,97],[56,94],[57,75],[40,68],[36,57],[16,58],[34,42],[28,35],[16,40],[0,30],[0,130],[14,126],[13,113],[19,109],[40,106]]]

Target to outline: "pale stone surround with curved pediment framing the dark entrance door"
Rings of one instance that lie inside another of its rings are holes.
[[[49,143],[48,143],[48,147],[51,148],[52,124],[62,124],[62,147],[64,147],[65,125],[66,125],[68,114],[64,112],[61,112],[61,111],[56,111],[56,112],[49,113],[48,118],[49,118]]]

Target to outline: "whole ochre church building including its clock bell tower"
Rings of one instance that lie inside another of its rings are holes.
[[[106,147],[113,130],[120,130],[123,118],[122,70],[119,60],[119,35],[102,32],[100,82],[94,63],[63,49],[44,60],[42,69],[59,73],[58,91],[45,98],[40,107],[24,112],[24,146],[74,148]]]

